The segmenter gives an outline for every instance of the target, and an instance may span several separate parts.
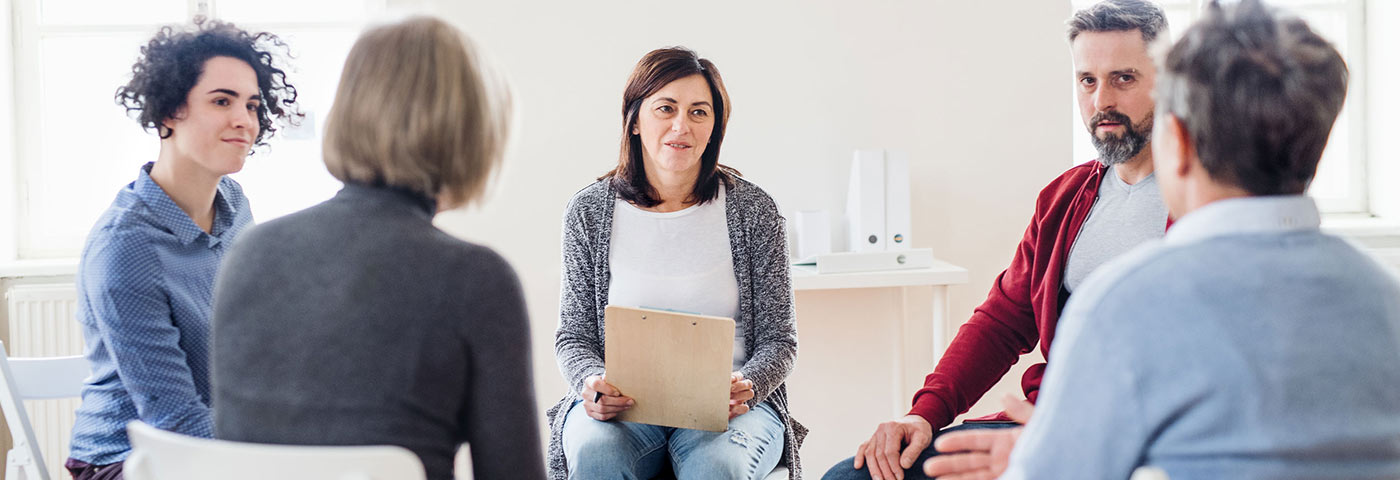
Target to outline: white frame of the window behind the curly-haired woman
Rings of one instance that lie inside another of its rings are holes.
[[[49,35],[77,35],[94,32],[129,34],[154,32],[161,22],[108,24],[108,25],[41,25],[39,3],[43,0],[0,0],[0,266],[73,263],[73,259],[52,260],[55,253],[69,256],[70,252],[45,252],[25,245],[24,228],[32,224],[28,192],[32,188],[32,174],[25,158],[42,158],[39,146],[39,39]],[[188,0],[186,20],[195,15],[218,18],[220,1],[238,0]],[[370,0],[367,18],[382,14],[389,0]],[[260,21],[239,22],[241,27],[266,31],[315,31],[326,28],[361,28],[361,22],[349,21]],[[116,88],[113,85],[112,88]],[[76,257],[77,252],[71,252]],[[50,257],[50,260],[32,260]],[[22,269],[21,269],[22,270]]]

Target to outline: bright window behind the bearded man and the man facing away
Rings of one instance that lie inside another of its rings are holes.
[[[1096,0],[1072,0],[1074,8],[1092,6]],[[1161,0],[1166,11],[1173,39],[1201,17],[1207,0]],[[1333,216],[1371,216],[1376,211],[1368,178],[1372,158],[1376,155],[1366,144],[1366,111],[1378,108],[1368,104],[1368,52],[1366,27],[1368,3],[1376,0],[1267,0],[1266,3],[1302,17],[1308,24],[1327,38],[1351,69],[1347,90],[1347,104],[1333,126],[1331,139],[1323,151],[1317,176],[1309,188],[1309,195],[1317,200],[1317,207]],[[1371,56],[1373,57],[1373,56]],[[1072,101],[1072,97],[1071,97]],[[1078,104],[1074,102],[1074,164],[1098,157],[1089,133],[1079,119]]]

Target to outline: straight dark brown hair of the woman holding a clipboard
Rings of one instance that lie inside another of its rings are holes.
[[[729,123],[729,92],[724,90],[724,80],[720,70],[708,59],[701,59],[696,52],[683,46],[655,49],[637,62],[627,78],[627,88],[622,94],[622,153],[617,155],[617,167],[599,179],[612,182],[617,196],[629,203],[641,207],[654,207],[661,203],[657,190],[647,182],[647,168],[641,161],[641,139],[631,133],[637,125],[637,115],[641,112],[641,102],[654,95],[672,81],[701,76],[710,84],[710,97],[714,98],[714,130],[710,133],[710,143],[700,154],[700,175],[696,176],[694,189],[686,203],[706,203],[720,195],[720,183],[734,185],[734,178],[739,172],[720,165],[720,144],[724,141],[724,126]]]

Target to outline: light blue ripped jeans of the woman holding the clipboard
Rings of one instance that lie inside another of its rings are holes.
[[[564,417],[568,477],[645,480],[665,472],[678,480],[763,479],[783,459],[784,425],[767,403],[729,420],[722,432],[598,421],[575,400]]]

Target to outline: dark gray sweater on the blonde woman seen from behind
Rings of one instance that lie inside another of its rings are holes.
[[[349,183],[239,237],[214,292],[214,437],[400,445],[428,479],[545,479],[529,319],[496,252],[420,195]]]

